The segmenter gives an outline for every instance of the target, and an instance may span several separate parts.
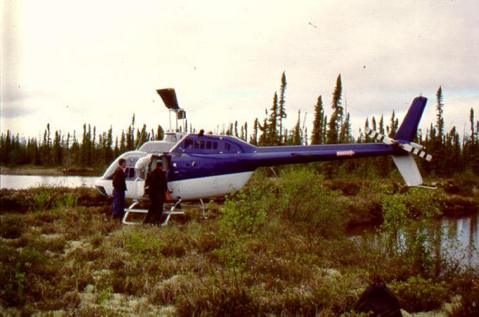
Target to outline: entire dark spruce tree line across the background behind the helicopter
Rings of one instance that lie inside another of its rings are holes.
[[[330,116],[326,114],[322,95],[318,96],[314,106],[313,130],[309,133],[306,127],[306,113],[301,116],[297,113],[297,123],[292,128],[285,126],[287,80],[285,72],[281,75],[279,92],[273,94],[273,102],[270,108],[265,109],[264,118],[256,117],[251,129],[248,124],[243,125],[237,121],[230,123],[228,128],[217,128],[216,133],[234,135],[258,146],[281,146],[294,144],[333,144],[349,142],[373,142],[364,132],[366,128],[372,128],[383,135],[394,137],[399,128],[399,120],[394,110],[385,119],[366,118],[364,128],[359,129],[359,135],[352,135],[347,101],[342,97],[341,75],[337,76],[336,85],[330,101]],[[474,111],[471,108],[468,122],[469,134],[459,135],[455,126],[451,130],[444,129],[444,97],[442,87],[436,92],[436,120],[430,123],[425,131],[418,130],[415,142],[422,144],[428,153],[433,155],[430,163],[421,160],[419,163],[425,173],[450,176],[471,170],[479,175],[479,120],[475,120]],[[386,122],[388,120],[388,122]],[[188,130],[188,124],[185,125]],[[194,128],[189,126],[189,131]],[[311,136],[310,136],[310,135]],[[20,139],[13,135],[10,130],[1,133],[0,136],[0,163],[2,165],[17,166],[23,164],[35,164],[37,166],[63,166],[70,167],[97,167],[107,166],[120,153],[136,149],[149,140],[163,139],[164,130],[161,125],[156,129],[147,129],[147,125],[141,128],[135,127],[135,114],[132,116],[130,125],[121,131],[121,134],[113,140],[113,128],[106,132],[98,132],[95,126],[84,123],[82,135],[51,131],[50,125],[46,125],[42,139],[28,137]],[[332,175],[337,173],[356,173],[385,176],[392,169],[392,161],[385,157],[371,158],[366,160],[349,160],[343,162],[329,162],[317,165],[322,172]]]

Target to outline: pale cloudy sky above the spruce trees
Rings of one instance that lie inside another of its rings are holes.
[[[286,74],[287,128],[314,104],[326,113],[337,75],[353,134],[366,117],[399,121],[428,97],[435,122],[468,134],[479,118],[479,4],[434,1],[1,0],[0,125],[25,137],[118,135],[130,124],[169,127],[156,89],[173,87],[199,130],[261,121]],[[173,127],[174,128],[174,127]]]

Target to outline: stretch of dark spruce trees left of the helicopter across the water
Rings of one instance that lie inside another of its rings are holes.
[[[150,140],[163,139],[164,130],[158,125],[156,130],[147,130],[147,125],[135,130],[135,114],[130,125],[121,131],[113,141],[113,128],[97,132],[95,126],[84,123],[82,135],[70,132],[51,131],[46,125],[43,138],[20,139],[10,130],[0,136],[0,163],[8,166],[34,164],[37,166],[104,167],[108,166],[120,153],[130,151]]]

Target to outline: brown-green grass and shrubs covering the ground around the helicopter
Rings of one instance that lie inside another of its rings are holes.
[[[259,172],[208,219],[166,228],[115,225],[93,189],[1,190],[0,313],[359,316],[375,280],[408,311],[477,311],[478,268],[442,259],[431,221],[477,210],[471,192]],[[347,235],[364,222],[380,234]]]

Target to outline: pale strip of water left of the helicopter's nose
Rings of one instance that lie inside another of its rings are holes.
[[[94,187],[99,176],[0,175],[0,189],[26,189],[39,186]]]

